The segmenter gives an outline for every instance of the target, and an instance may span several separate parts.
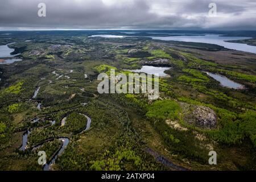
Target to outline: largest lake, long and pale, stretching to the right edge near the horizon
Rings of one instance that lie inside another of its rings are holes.
[[[220,35],[204,35],[204,36],[195,36],[195,35],[180,35],[180,36],[149,36],[155,40],[174,40],[181,42],[197,42],[197,43],[207,43],[207,44],[217,44],[218,46],[223,46],[228,49],[234,49],[237,51],[245,51],[256,53],[256,46],[249,46],[247,44],[241,43],[231,43],[224,42],[225,40],[242,40],[250,39],[240,36],[220,36]]]

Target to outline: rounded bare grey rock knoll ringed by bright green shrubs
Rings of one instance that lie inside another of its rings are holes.
[[[199,127],[214,129],[217,126],[217,117],[214,110],[206,106],[195,106],[193,109],[193,121]]]

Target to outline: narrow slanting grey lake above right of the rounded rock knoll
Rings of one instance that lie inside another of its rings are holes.
[[[217,80],[218,82],[220,82],[221,86],[225,86],[225,87],[232,88],[232,89],[242,89],[243,88],[243,85],[238,84],[237,82],[234,82],[232,80],[229,80],[229,78],[227,78],[225,76],[217,75],[214,73],[208,73],[208,72],[206,72],[206,73],[210,77],[214,78],[214,80]]]

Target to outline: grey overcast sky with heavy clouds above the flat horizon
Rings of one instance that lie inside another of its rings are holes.
[[[38,4],[46,4],[46,17]],[[217,14],[209,16],[209,3]],[[1,0],[0,29],[256,30],[255,0]]]

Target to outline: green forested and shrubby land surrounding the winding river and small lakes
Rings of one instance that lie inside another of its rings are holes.
[[[59,138],[68,138],[69,143],[54,170],[174,169],[158,162],[159,155],[188,169],[256,169],[252,54],[139,37],[94,39],[79,31],[77,36],[42,32],[33,42],[24,42],[32,35],[19,34],[13,35],[16,43],[10,46],[23,61],[0,65],[1,170],[42,170],[37,152],[46,151],[49,160],[61,146]],[[115,69],[116,74],[128,75],[131,72],[124,69],[144,64],[172,67],[167,77],[159,78],[158,100],[148,100],[148,93],[97,92],[99,73]],[[225,75],[246,89],[222,87],[204,71]],[[36,100],[31,100],[39,86]],[[203,129],[193,122],[193,109],[200,105],[214,111],[216,128]],[[86,131],[88,121],[82,113],[92,119]],[[39,120],[33,122],[35,118]],[[20,151],[22,134],[28,130],[28,150]],[[220,165],[208,165],[211,150],[217,152]]]

